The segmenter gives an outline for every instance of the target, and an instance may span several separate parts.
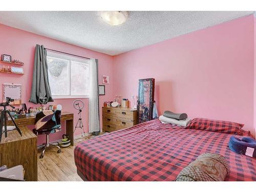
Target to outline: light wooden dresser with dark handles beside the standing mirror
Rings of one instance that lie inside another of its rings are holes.
[[[137,110],[131,108],[102,107],[102,131],[113,132],[137,123]]]

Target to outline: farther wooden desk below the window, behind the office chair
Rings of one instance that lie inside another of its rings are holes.
[[[69,136],[70,143],[73,146],[74,145],[74,114],[69,113],[69,112],[61,112],[60,118],[61,118],[61,121],[66,121],[66,134]],[[15,119],[15,122],[18,127],[23,127],[23,126],[27,126],[27,125],[36,123],[35,117],[26,117],[26,118],[22,118],[22,119]],[[11,120],[7,121],[7,125],[13,125],[12,121]],[[9,137],[9,135],[8,135],[8,137]]]

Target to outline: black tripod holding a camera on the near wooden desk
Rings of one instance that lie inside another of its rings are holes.
[[[7,106],[10,106],[12,109],[14,109],[15,107],[10,105],[10,101],[13,101],[13,99],[9,98],[9,97],[6,97],[6,102],[4,103],[0,103],[0,106],[3,106],[4,109],[1,111],[1,118],[0,118],[0,142],[2,140],[2,134],[3,134],[3,125],[5,126],[5,137],[7,137],[7,122],[6,122],[6,119],[7,119],[7,114],[10,116],[14,126],[15,126],[15,129],[14,130],[17,130],[19,135],[22,136],[22,132],[19,130],[17,124],[15,123],[14,119],[12,118],[11,116],[11,113],[9,110],[6,109]],[[5,123],[5,124],[4,124]],[[12,130],[10,130],[12,131]]]

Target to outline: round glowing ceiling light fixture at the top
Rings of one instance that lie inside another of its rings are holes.
[[[121,25],[128,17],[128,11],[103,11],[101,18],[109,25]]]

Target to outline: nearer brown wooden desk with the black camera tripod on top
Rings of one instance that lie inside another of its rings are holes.
[[[9,131],[8,137],[2,135],[0,143],[0,166],[8,168],[22,165],[25,169],[26,181],[37,181],[37,137],[28,127],[19,127],[22,131],[20,137],[17,130]]]

